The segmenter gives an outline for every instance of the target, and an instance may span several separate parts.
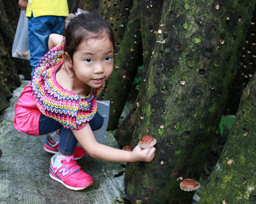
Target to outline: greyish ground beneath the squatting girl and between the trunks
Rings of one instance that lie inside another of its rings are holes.
[[[13,126],[14,105],[29,81],[13,92],[10,106],[0,115],[0,204],[4,203],[130,203],[126,199],[123,183],[125,163],[96,160],[89,155],[78,161],[80,167],[92,175],[94,184],[83,191],[70,191],[49,177],[49,161],[52,154],[43,150],[45,136],[32,137],[19,133]],[[132,108],[127,103],[120,122]],[[107,146],[121,148],[113,136],[106,133]],[[200,179],[201,188],[194,195],[197,203],[210,172],[213,171],[218,155],[223,148],[223,137],[216,137],[215,146],[208,158]]]

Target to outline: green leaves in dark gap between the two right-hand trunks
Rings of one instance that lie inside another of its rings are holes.
[[[221,117],[220,124],[218,125],[217,134],[220,134],[220,136],[227,136],[226,134],[230,133],[234,122],[235,122],[234,115],[226,115],[226,116],[223,115]]]

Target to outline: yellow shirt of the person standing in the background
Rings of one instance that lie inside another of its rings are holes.
[[[68,16],[69,8],[67,0],[29,0],[26,7],[26,17],[31,13],[38,16]]]

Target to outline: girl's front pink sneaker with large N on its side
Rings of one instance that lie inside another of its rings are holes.
[[[54,167],[54,160],[57,154],[50,159],[50,178],[60,182],[66,188],[73,191],[80,191],[93,184],[93,179],[89,174],[80,170],[78,163],[71,157],[63,158],[62,164]]]

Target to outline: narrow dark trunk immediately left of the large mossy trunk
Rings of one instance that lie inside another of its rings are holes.
[[[163,9],[163,0],[151,2],[149,0],[140,1],[141,8],[141,34],[142,34],[142,48],[143,49],[143,74],[142,81],[140,83],[139,94],[134,102],[132,110],[124,119],[123,123],[118,127],[114,133],[115,139],[122,145],[130,145],[134,127],[136,125],[136,119],[139,113],[137,108],[140,106],[140,96],[142,95],[142,87],[144,85],[144,78],[146,77],[147,70],[149,69],[149,63],[151,60],[154,44],[158,36],[159,23],[161,27],[160,17],[161,10]]]

